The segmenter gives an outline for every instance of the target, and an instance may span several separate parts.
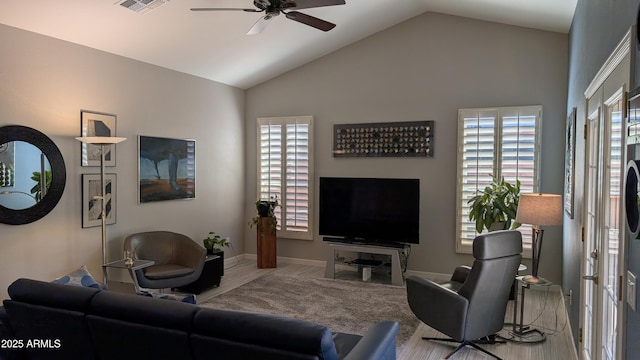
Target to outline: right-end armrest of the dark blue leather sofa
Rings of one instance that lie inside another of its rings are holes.
[[[344,357],[344,360],[394,360],[396,335],[399,329],[395,321],[374,324]]]

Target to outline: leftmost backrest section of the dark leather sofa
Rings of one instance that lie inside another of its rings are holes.
[[[61,291],[64,290],[64,291]],[[24,349],[28,358],[95,359],[96,353],[85,320],[91,300],[100,290],[19,279],[9,286],[11,300],[3,302],[17,339],[44,340]]]

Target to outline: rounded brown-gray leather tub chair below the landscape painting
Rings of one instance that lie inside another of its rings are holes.
[[[127,236],[124,250],[153,266],[135,271],[143,288],[165,289],[188,285],[202,273],[207,250],[188,236],[170,231],[149,231]],[[138,290],[138,289],[136,289]]]

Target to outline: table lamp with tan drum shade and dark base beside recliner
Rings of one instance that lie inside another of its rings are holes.
[[[562,196],[557,194],[521,194],[518,202],[516,221],[530,224],[532,228],[531,275],[523,278],[529,283],[539,283],[538,277],[540,253],[542,252],[542,235],[540,226],[562,225]]]

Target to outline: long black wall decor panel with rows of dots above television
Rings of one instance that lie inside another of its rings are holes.
[[[433,121],[333,126],[334,157],[433,157]]]

